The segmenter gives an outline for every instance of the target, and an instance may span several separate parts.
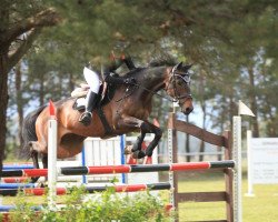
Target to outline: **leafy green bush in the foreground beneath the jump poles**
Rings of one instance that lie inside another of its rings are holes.
[[[169,221],[162,203],[149,192],[140,192],[135,195],[115,193],[108,189],[103,193],[88,194],[83,188],[73,189],[62,206],[57,211],[42,204],[40,211],[33,210],[32,203],[24,201],[24,195],[19,194],[16,210],[10,216],[17,221]]]

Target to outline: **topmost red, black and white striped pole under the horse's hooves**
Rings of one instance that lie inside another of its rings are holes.
[[[99,165],[99,167],[68,167],[59,168],[59,175],[82,175],[82,174],[109,174],[109,173],[138,173],[138,172],[158,172],[158,171],[196,171],[209,169],[234,168],[235,161],[211,161],[211,162],[185,162],[185,163],[165,163],[151,165]],[[2,171],[2,178],[9,176],[46,176],[48,169],[24,169]]]

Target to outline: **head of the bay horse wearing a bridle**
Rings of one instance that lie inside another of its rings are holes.
[[[192,97],[190,93],[190,74],[188,70],[191,65],[182,65],[182,62],[175,65],[166,78],[166,92],[172,97],[180,105],[185,114],[193,110]]]

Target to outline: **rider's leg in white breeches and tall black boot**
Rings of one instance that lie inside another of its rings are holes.
[[[99,75],[98,73],[85,68],[83,70],[85,79],[90,87],[90,90],[86,97],[86,110],[81,114],[79,122],[85,125],[89,125],[91,123],[92,110],[96,108],[98,93],[99,93]]]

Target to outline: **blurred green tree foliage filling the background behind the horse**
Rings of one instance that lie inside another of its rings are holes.
[[[240,99],[256,112],[257,118],[250,119],[254,130],[278,137],[276,1],[14,2],[21,6],[12,14],[14,19],[42,8],[54,8],[62,18],[58,26],[42,30],[26,54],[23,99],[31,101],[23,102],[26,112],[49,98],[69,97],[83,81],[81,70],[88,61],[99,70],[111,50],[126,50],[138,67],[166,54],[193,63],[195,103],[206,107],[205,115],[214,129],[231,128]],[[126,71],[119,70],[121,74]],[[150,121],[158,117],[163,127],[171,103],[160,98],[153,102]],[[10,108],[14,108],[12,103]]]

